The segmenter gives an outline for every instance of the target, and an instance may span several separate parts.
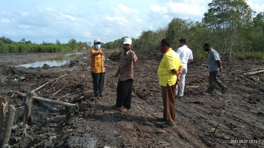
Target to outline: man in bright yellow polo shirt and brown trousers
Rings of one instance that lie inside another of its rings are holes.
[[[159,50],[163,58],[158,68],[159,84],[163,100],[163,117],[158,121],[165,122],[161,127],[172,127],[175,125],[175,94],[176,85],[180,85],[182,73],[182,62],[180,56],[172,50],[169,40],[163,39],[159,44]]]

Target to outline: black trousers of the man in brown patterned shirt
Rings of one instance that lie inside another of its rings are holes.
[[[118,81],[116,88],[116,106],[131,108],[133,79]]]

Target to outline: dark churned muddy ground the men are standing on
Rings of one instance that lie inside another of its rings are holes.
[[[188,66],[185,98],[176,99],[176,127],[165,129],[156,121],[163,111],[157,76],[162,56],[137,53],[139,62],[134,64],[131,110],[120,112],[111,108],[116,100],[117,79],[114,75],[119,54],[113,50],[103,51],[106,58],[112,60],[105,61],[103,93],[107,96],[100,99],[93,97],[89,57],[78,55],[70,58],[67,65],[59,67],[25,68],[13,65],[63,53],[0,53],[0,97],[16,107],[10,147],[264,147],[264,84],[251,78],[264,82],[264,74],[243,75],[255,68],[263,69],[263,61],[223,61],[224,71],[219,72],[219,78],[228,86],[227,92],[222,95],[215,89],[213,95],[203,95],[201,92],[208,85],[208,68],[202,64],[207,60],[194,59]],[[78,103],[79,110],[49,104],[59,109],[59,112],[51,112],[34,100],[29,120],[20,125],[24,104],[16,92],[27,93],[65,74],[36,94]],[[26,79],[14,81],[20,77]]]

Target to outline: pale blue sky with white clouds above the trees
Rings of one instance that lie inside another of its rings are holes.
[[[115,41],[167,27],[176,18],[201,21],[212,0],[2,0],[0,36],[32,43]],[[248,0],[257,13],[263,0]]]

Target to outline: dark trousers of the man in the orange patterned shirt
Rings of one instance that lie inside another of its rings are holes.
[[[95,97],[99,97],[103,91],[103,83],[105,82],[105,72],[92,73],[93,78],[93,92]]]

